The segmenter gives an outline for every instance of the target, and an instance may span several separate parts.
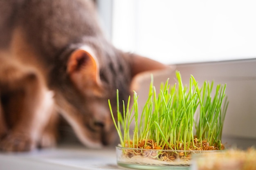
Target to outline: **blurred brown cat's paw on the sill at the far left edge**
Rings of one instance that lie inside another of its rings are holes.
[[[23,133],[9,133],[0,141],[0,150],[4,152],[29,151],[34,148],[36,148],[36,142]]]

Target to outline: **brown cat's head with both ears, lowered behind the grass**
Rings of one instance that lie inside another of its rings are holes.
[[[97,148],[112,144],[117,132],[108,99],[116,114],[117,89],[119,101],[126,102],[134,90],[130,89],[134,77],[159,69],[169,69],[169,66],[118,50],[101,53],[82,46],[68,57],[66,75],[70,85],[56,95],[56,102],[85,146]]]

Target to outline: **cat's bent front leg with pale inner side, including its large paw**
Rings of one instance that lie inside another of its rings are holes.
[[[16,75],[21,73],[20,70],[15,71],[18,71]],[[11,88],[9,90],[19,89],[23,92],[23,99],[18,100],[21,103],[15,104],[16,97],[14,95],[9,101],[14,105],[12,107],[21,107],[20,110],[14,109],[18,113],[8,113],[10,117],[17,115],[18,119],[13,121],[13,126],[8,134],[0,141],[0,150],[32,150],[38,145],[43,129],[53,113],[53,92],[47,90],[43,80],[35,73],[24,73],[8,83],[8,87]]]

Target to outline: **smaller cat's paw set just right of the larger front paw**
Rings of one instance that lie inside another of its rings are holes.
[[[57,135],[52,132],[44,132],[39,141],[40,148],[49,148],[56,146],[57,143]]]

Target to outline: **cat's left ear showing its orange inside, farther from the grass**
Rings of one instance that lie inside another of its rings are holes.
[[[99,64],[94,51],[89,46],[76,49],[67,62],[67,73],[70,80],[82,93],[101,93]]]

